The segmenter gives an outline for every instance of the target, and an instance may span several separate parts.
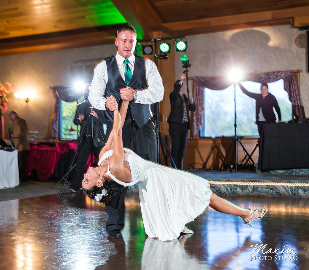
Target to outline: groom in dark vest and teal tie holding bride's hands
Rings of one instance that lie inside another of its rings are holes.
[[[133,55],[136,46],[136,32],[130,25],[122,26],[115,38],[116,56],[99,63],[94,70],[89,101],[99,110],[106,110],[110,121],[107,134],[112,130],[113,110],[121,100],[129,101],[125,123],[122,129],[124,147],[132,149],[140,157],[157,161],[155,126],[150,120],[150,104],[163,99],[164,87],[154,62]],[[116,100],[107,100],[108,96]],[[125,221],[125,195],[128,187],[121,186],[112,205],[106,210],[109,220],[106,231],[112,238],[121,238]]]

